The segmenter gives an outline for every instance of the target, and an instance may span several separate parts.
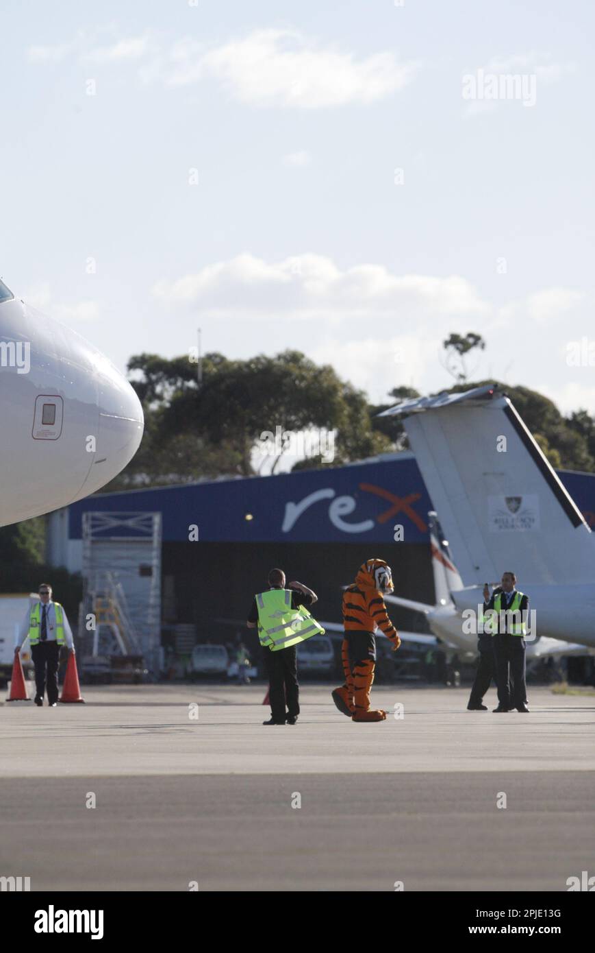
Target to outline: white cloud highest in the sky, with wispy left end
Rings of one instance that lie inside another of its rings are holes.
[[[49,63],[78,53],[85,62],[134,62],[145,82],[186,86],[214,79],[240,102],[300,109],[375,102],[403,89],[419,66],[399,61],[392,51],[358,58],[298,30],[252,30],[218,46],[188,37],[171,43],[149,30],[111,35],[111,42],[97,46],[96,35],[79,33],[69,44],[30,47],[29,58]]]

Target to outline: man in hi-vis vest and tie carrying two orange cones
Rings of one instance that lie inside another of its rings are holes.
[[[23,618],[15,654],[21,651],[28,636],[35,666],[35,704],[43,705],[47,686],[48,703],[50,708],[55,708],[60,649],[67,645],[74,652],[74,644],[66,612],[59,602],[52,601],[51,586],[47,582],[42,582],[39,587],[39,602],[31,610],[28,609]]]

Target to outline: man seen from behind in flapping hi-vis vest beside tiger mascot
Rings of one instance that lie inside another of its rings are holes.
[[[270,570],[268,586],[267,592],[254,597],[247,623],[249,629],[258,625],[267,666],[271,715],[263,724],[295,724],[300,714],[296,649],[325,630],[307,611],[318,600],[311,589],[301,582],[289,582],[286,589],[282,569]]]

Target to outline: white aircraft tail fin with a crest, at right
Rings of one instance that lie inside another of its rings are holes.
[[[407,400],[405,427],[464,585],[512,570],[530,583],[592,582],[585,518],[508,397],[494,387]]]

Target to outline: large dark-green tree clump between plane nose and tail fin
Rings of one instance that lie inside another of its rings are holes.
[[[188,357],[135,355],[132,384],[146,418],[139,452],[103,492],[180,483],[201,477],[249,476],[261,435],[312,429],[335,432],[334,466],[372,456],[392,442],[372,425],[366,395],[329,365],[299,351],[228,360],[208,354],[202,386]],[[278,465],[273,463],[273,472]],[[302,467],[330,464],[313,457]]]

